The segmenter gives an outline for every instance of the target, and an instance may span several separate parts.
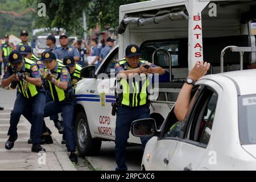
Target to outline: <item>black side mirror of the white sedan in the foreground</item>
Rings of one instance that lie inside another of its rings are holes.
[[[155,119],[138,119],[131,123],[131,134],[135,137],[152,137],[156,133]]]

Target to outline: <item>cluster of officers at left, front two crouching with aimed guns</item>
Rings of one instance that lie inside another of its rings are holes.
[[[28,46],[28,32],[20,32],[22,42],[16,46],[9,43],[8,35],[1,46],[0,57],[5,64],[5,73],[2,87],[11,85],[17,88],[14,108],[11,111],[9,139],[5,144],[7,150],[14,147],[18,138],[17,125],[20,115],[31,123],[30,139],[32,152],[45,152],[41,144],[53,143],[51,131],[46,126],[44,118],[50,117],[60,134],[63,134],[61,143],[66,144],[71,152],[69,159],[77,163],[76,140],[73,126],[75,110],[75,92],[73,86],[81,80],[80,52],[76,47],[68,46],[68,36],[60,35],[60,45],[55,45],[56,39],[49,35],[49,48],[36,57],[32,48]],[[2,55],[3,54],[3,55]],[[58,119],[61,113],[63,121]]]

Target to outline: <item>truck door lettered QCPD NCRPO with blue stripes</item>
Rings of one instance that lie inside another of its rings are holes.
[[[114,47],[109,55],[102,61],[96,71],[96,78],[90,82],[91,94],[88,94],[86,109],[92,113],[93,127],[90,127],[94,135],[104,135],[114,139],[115,117],[111,114],[114,96],[114,67],[118,62],[118,47]],[[92,101],[92,102],[90,102]]]

